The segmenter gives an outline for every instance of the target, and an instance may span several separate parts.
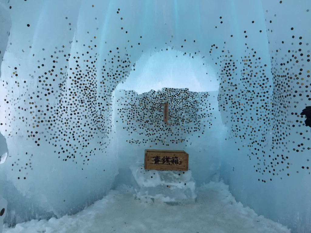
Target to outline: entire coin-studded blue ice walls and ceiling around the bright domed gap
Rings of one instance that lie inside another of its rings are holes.
[[[5,222],[83,209],[152,147],[187,150],[198,184],[218,174],[258,214],[309,232],[311,134],[299,114],[311,100],[310,10],[308,0],[0,0]],[[213,69],[217,90],[115,91],[142,56],[169,49]]]

